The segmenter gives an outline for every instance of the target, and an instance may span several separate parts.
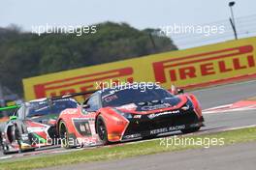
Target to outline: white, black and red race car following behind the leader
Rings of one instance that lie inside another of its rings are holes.
[[[36,99],[3,108],[16,110],[7,122],[0,123],[0,150],[3,154],[20,153],[60,144],[55,140],[58,116],[79,105],[75,99]]]

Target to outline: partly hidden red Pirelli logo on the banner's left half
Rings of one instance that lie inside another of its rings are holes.
[[[86,71],[85,71],[86,72]],[[95,73],[84,73],[77,76],[75,73],[69,77],[58,80],[48,81],[43,83],[36,83],[33,85],[33,92],[35,99],[54,97],[60,95],[67,95],[77,92],[84,92],[96,89],[96,82],[108,81],[109,79],[118,80],[124,77],[124,80],[131,81],[133,78],[130,76],[133,73],[132,68],[123,68],[111,71],[98,71]]]

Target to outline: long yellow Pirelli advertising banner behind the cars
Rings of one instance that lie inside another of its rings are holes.
[[[256,76],[256,38],[148,55],[23,79],[25,99],[95,90],[103,82],[191,88]]]

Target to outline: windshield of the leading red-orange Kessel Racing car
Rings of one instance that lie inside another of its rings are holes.
[[[161,100],[166,98],[174,98],[174,96],[162,88],[145,88],[144,91],[142,91],[142,89],[114,90],[103,92],[102,105],[104,107],[117,107],[129,103]]]

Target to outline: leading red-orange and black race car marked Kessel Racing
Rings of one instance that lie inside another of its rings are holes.
[[[80,107],[64,110],[57,122],[63,146],[106,145],[175,130],[194,132],[204,126],[194,95],[172,94],[156,85],[139,86],[98,90]]]

